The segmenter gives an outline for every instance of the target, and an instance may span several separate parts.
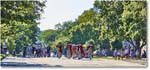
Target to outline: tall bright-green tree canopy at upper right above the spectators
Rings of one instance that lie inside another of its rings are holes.
[[[146,1],[95,1],[99,8],[101,40],[110,39],[110,45],[116,40],[136,41],[137,45],[146,44]],[[132,43],[133,44],[133,43]]]

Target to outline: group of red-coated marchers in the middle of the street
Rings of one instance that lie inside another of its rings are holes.
[[[63,49],[62,44],[58,43],[56,45],[57,47],[57,52],[58,52],[58,58],[61,58],[62,54],[67,57],[67,58],[77,58],[77,59],[82,59],[82,58],[90,58],[92,59],[93,56],[93,49],[94,45],[90,43],[87,48],[84,48],[82,44],[71,44],[68,43],[66,47]]]

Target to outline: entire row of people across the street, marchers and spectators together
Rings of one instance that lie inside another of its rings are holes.
[[[50,45],[47,47],[42,47],[38,45],[29,45],[23,47],[22,49],[22,57],[57,57],[61,58],[62,56],[70,59],[82,59],[89,58],[92,59],[93,56],[113,56],[115,59],[123,59],[123,58],[146,58],[146,50],[142,50],[141,52],[136,48],[126,47],[124,49],[115,48],[113,51],[110,49],[96,49],[96,53],[94,53],[94,44],[90,42],[86,48],[83,47],[83,44],[73,44],[69,42],[67,45],[63,46],[61,42],[59,42],[56,46],[56,49],[53,49]],[[7,45],[1,46],[1,53],[7,54]],[[15,53],[13,53],[15,54]],[[140,55],[140,56],[139,56]]]

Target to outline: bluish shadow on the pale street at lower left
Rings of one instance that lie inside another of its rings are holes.
[[[2,67],[62,67],[61,65],[50,66],[47,64],[28,64],[25,62],[0,62]]]

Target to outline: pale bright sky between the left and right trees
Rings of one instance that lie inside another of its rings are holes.
[[[93,7],[94,0],[47,0],[38,27],[41,31],[55,29],[64,21],[74,21],[84,10]]]

